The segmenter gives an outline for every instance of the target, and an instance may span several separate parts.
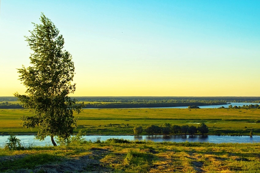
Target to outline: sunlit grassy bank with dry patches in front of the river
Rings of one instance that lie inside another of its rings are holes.
[[[0,149],[0,172],[260,172],[260,146],[125,141]]]

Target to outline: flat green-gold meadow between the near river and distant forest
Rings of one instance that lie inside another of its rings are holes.
[[[0,109],[0,133],[32,134],[36,129],[22,128],[20,116],[31,115],[28,109]],[[260,109],[84,109],[75,132],[82,130],[87,134],[133,135],[135,126],[164,123],[176,125],[195,125],[204,122],[209,134],[214,135],[260,135]],[[146,133],[143,132],[143,135]]]

